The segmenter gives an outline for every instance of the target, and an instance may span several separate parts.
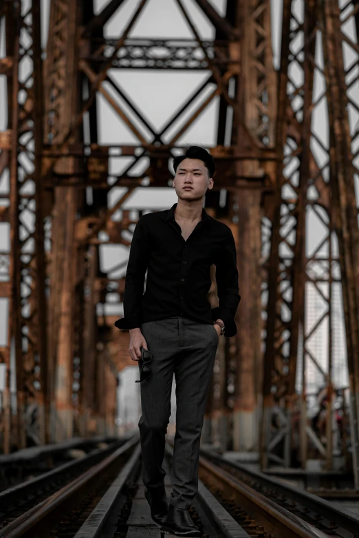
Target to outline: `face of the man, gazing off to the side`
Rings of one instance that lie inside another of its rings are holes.
[[[173,186],[180,200],[200,200],[207,189],[213,189],[213,178],[202,160],[184,159],[177,166]]]

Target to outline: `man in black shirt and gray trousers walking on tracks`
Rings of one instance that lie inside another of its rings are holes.
[[[178,202],[138,220],[127,266],[124,317],[115,325],[129,329],[133,361],[140,361],[141,348],[152,354],[151,377],[141,381],[142,481],[152,519],[162,530],[184,536],[199,534],[188,507],[197,494],[204,411],[219,336],[237,334],[234,318],[241,297],[232,230],[203,207],[207,189],[213,189],[213,157],[204,148],[188,147],[185,155],[175,157],[173,168]],[[213,263],[219,297],[215,308],[207,299]],[[162,462],[173,374],[177,413],[168,504]]]

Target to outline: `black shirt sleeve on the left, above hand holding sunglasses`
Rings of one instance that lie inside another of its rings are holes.
[[[149,265],[150,245],[149,229],[142,215],[133,231],[124,281],[124,316],[115,322],[118,329],[129,330],[141,326],[144,275]]]

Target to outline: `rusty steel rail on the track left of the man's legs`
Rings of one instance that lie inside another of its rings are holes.
[[[0,538],[36,537],[44,535],[61,520],[66,511],[75,508],[83,497],[89,494],[91,488],[103,484],[105,477],[116,468],[122,457],[133,450],[138,444],[139,436],[134,435],[131,440],[120,446],[113,454],[75,480],[50,495],[45,501],[34,506],[5,528],[0,530]]]

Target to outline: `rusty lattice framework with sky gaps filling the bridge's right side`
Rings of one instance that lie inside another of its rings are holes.
[[[283,3],[276,133],[277,151],[282,151],[283,164],[276,174],[276,215],[268,279],[263,466],[270,460],[290,465],[293,430],[299,412],[298,459],[305,462],[309,438],[325,458],[327,468],[331,467],[333,364],[340,360],[337,329],[341,323],[342,305],[338,305],[341,292],[347,348],[351,348],[349,374],[355,369],[354,363],[358,363],[358,278],[355,276],[358,222],[354,217],[357,210],[353,157],[347,136],[342,11],[334,2]],[[341,177],[345,177],[345,184]],[[343,228],[348,226],[349,219],[350,231],[348,228],[348,237],[344,239]],[[313,300],[316,311],[311,308]],[[335,303],[339,307],[336,316]],[[327,342],[327,349],[315,345],[316,336]],[[342,352],[345,353],[344,347]],[[327,390],[325,446],[307,421],[310,374],[321,378],[322,387]],[[358,446],[356,381],[355,376],[349,377],[351,431],[353,446]],[[357,458],[354,450],[356,476]]]

